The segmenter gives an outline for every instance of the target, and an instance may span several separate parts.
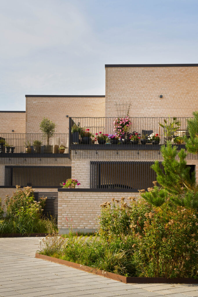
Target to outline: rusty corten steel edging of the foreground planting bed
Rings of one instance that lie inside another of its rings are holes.
[[[92,273],[92,274],[96,274],[96,275],[99,275],[99,276],[114,279],[114,280],[117,280],[119,282],[123,282],[125,284],[130,284],[130,283],[136,283],[136,284],[137,283],[140,283],[140,284],[143,284],[143,283],[146,283],[146,284],[152,284],[152,283],[197,284],[198,283],[197,279],[192,279],[192,278],[172,278],[172,279],[170,279],[170,278],[166,278],[166,277],[124,277],[123,275],[115,274],[115,273],[108,272],[108,271],[102,271],[102,270],[97,269],[97,268],[77,264],[77,263],[74,263],[74,262],[69,262],[69,261],[66,261],[66,260],[61,260],[61,259],[54,258],[54,257],[41,255],[41,254],[38,254],[38,253],[36,253],[35,258],[51,261],[51,262],[62,264],[62,265],[66,265],[66,266],[76,268],[76,269],[79,269],[79,270],[83,270],[83,271],[86,271],[86,272],[89,272],[89,273]]]

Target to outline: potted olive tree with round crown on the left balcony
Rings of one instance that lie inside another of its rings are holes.
[[[44,145],[44,153],[53,153],[53,146],[49,144],[49,140],[55,134],[55,127],[56,124],[45,117],[40,122],[40,130],[47,136],[47,145]]]

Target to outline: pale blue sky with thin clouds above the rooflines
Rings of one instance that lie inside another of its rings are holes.
[[[198,63],[197,37],[197,0],[0,0],[0,110],[104,95],[105,64]]]

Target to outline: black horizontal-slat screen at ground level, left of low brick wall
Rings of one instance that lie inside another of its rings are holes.
[[[58,218],[58,192],[34,192],[35,201],[41,197],[47,197],[43,208],[43,216],[47,218]]]

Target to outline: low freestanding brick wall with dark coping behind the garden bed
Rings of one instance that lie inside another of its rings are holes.
[[[118,189],[58,189],[58,229],[59,234],[74,232],[94,232],[97,229],[96,218],[100,215],[100,204],[112,198],[126,199],[139,197],[139,192]]]

